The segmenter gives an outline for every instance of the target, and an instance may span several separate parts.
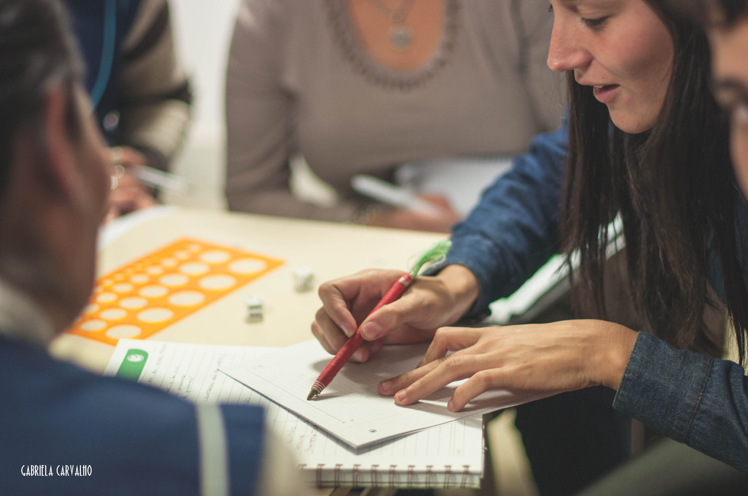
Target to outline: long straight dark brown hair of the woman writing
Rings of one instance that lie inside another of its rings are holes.
[[[572,276],[579,279],[576,300],[605,317],[606,228],[620,213],[643,330],[679,348],[718,354],[704,318],[716,303],[710,272],[721,268],[742,361],[748,291],[735,207],[744,200],[729,160],[728,119],[711,94],[702,28],[660,0],[649,3],[675,46],[669,88],[652,129],[619,130],[592,87],[577,84],[568,73],[571,114],[560,229],[568,263],[572,252],[580,253],[578,274]]]

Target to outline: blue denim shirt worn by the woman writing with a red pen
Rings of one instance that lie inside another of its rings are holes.
[[[468,267],[480,294],[468,317],[507,297],[557,252],[557,215],[568,121],[539,134],[512,169],[488,187],[453,228],[448,264]],[[739,214],[746,205],[739,205]],[[740,216],[739,216],[740,217]],[[712,257],[712,283],[723,293]],[[637,337],[613,407],[675,441],[748,472],[748,382],[735,362],[675,350],[646,332]]]

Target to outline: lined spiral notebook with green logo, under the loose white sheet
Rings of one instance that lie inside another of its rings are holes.
[[[256,362],[273,350],[278,348],[120,339],[105,375],[151,385],[193,403],[264,406],[269,427],[286,439],[302,477],[311,485],[479,487],[484,450],[481,415],[357,450],[218,370]]]

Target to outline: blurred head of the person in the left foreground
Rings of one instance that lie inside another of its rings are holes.
[[[58,0],[0,0],[0,282],[53,333],[91,293],[110,155]]]

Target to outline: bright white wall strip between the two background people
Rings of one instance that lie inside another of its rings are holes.
[[[192,183],[187,195],[165,202],[225,208],[224,84],[229,43],[239,0],[169,0],[177,53],[194,90],[192,125],[174,173]]]

